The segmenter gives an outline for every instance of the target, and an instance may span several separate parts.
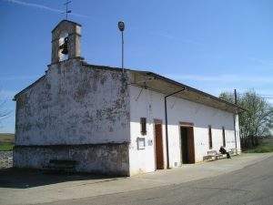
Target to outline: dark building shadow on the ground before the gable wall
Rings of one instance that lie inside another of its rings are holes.
[[[0,188],[27,189],[66,181],[96,179],[94,183],[99,183],[120,178],[123,177],[90,173],[49,172],[39,169],[8,168],[0,169]]]

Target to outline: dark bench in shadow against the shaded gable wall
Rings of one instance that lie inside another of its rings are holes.
[[[48,165],[44,168],[52,171],[72,172],[75,171],[76,164],[75,160],[50,159]]]

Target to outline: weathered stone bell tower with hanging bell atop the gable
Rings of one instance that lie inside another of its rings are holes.
[[[52,30],[51,64],[81,55],[81,25],[63,20]]]

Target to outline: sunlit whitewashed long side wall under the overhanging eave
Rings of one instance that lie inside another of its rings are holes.
[[[131,143],[129,149],[130,173],[148,172],[156,169],[155,166],[155,129],[154,119],[161,119],[165,124],[164,95],[130,86],[130,132]],[[141,94],[139,95],[139,93]],[[139,97],[138,97],[139,95]],[[235,148],[234,117],[232,113],[210,108],[202,104],[177,97],[167,98],[168,112],[168,140],[169,140],[169,165],[181,165],[180,159],[180,133],[179,121],[194,123],[196,162],[202,161],[208,149],[208,125],[212,127],[213,149],[218,150],[223,145],[222,127],[226,129],[227,149]],[[147,135],[140,133],[140,118],[147,118]],[[238,127],[238,126],[237,126]],[[166,161],[165,127],[163,126],[164,163]],[[137,149],[136,138],[146,138],[146,148]],[[148,140],[153,140],[153,145],[148,145]],[[239,141],[238,141],[239,144]],[[238,146],[239,148],[239,146]]]

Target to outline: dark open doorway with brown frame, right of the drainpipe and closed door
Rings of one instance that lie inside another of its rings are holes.
[[[181,164],[195,163],[195,143],[193,127],[180,126]]]

